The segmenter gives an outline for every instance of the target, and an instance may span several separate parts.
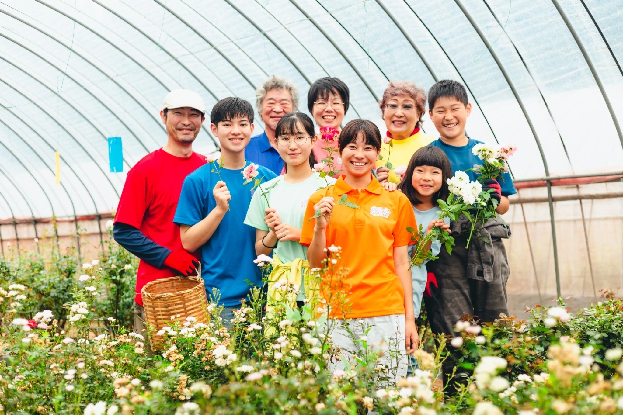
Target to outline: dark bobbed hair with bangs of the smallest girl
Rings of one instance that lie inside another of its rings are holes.
[[[422,203],[422,201],[417,198],[418,193],[411,184],[413,171],[417,166],[432,166],[441,170],[441,189],[432,196],[432,203],[433,205],[437,205],[438,199],[446,200],[448,195],[450,195],[447,180],[452,177],[452,168],[450,167],[450,160],[448,156],[445,155],[445,152],[439,147],[426,146],[421,147],[411,156],[409,166],[407,166],[407,171],[404,174],[402,182],[398,185],[398,189],[402,190],[402,193],[409,198],[412,205],[419,205],[419,203]],[[424,226],[426,225],[427,224],[424,223]]]

